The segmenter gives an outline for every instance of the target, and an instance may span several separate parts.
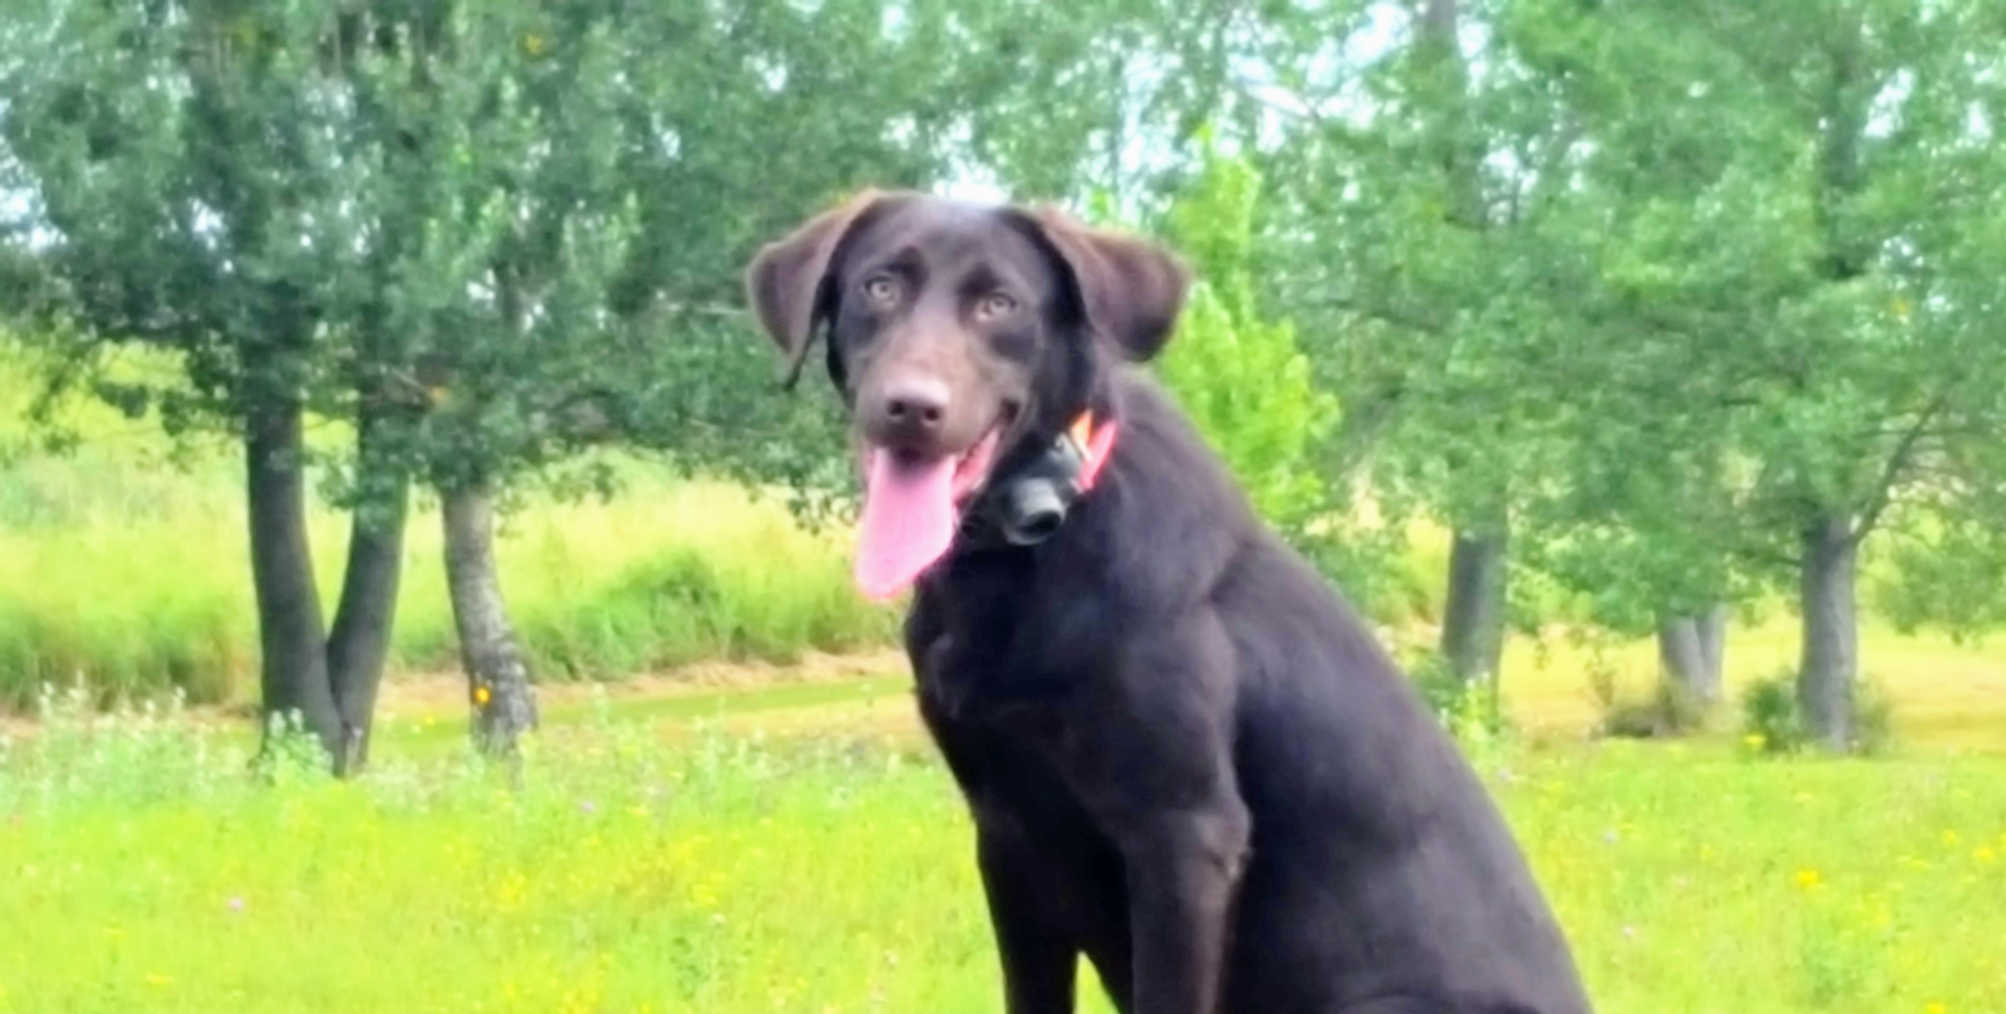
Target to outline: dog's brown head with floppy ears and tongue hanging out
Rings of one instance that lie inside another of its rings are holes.
[[[746,287],[790,382],[826,333],[867,482],[859,578],[889,594],[999,462],[1101,396],[1107,363],[1163,347],[1188,273],[1059,211],[867,191],[764,247]]]

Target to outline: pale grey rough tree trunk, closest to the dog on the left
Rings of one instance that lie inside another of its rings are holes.
[[[536,729],[536,697],[495,574],[493,498],[485,486],[465,484],[439,490],[439,500],[445,582],[473,703],[473,741],[489,755],[514,755],[516,737]]]

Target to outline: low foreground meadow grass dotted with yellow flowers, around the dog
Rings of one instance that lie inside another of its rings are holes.
[[[708,719],[830,703],[770,693],[572,713],[514,791],[393,737],[263,785],[241,731],[58,711],[0,759],[0,1012],[997,1010],[943,769]],[[2006,759],[1474,755],[1601,1010],[2002,1010]]]

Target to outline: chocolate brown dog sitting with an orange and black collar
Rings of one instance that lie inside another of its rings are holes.
[[[1581,1014],[1504,821],[1356,614],[1131,363],[1186,271],[1059,213],[865,193],[768,245],[913,586],[919,707],[977,827],[1011,1014]]]

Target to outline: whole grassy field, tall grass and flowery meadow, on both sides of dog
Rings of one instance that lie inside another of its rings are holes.
[[[546,681],[520,783],[467,759],[437,518],[413,520],[369,777],[247,775],[243,723],[8,717],[44,681],[241,703],[255,659],[237,464],[70,406],[34,446],[0,355],[0,1014],[999,1010],[969,825],[919,735],[895,614],[830,538],[626,462],[499,538]],[[333,598],[339,516],[315,516]],[[1426,643],[1422,538],[1412,614]],[[1386,616],[1382,616],[1386,618]],[[1731,721],[1597,743],[1647,643],[1507,653],[1470,743],[1601,1010],[2006,1014],[2006,647],[1870,624],[1896,747],[1759,761]],[[1739,626],[1733,687],[1787,671]],[[600,681],[608,683],[600,683]],[[1105,1010],[1091,984],[1087,1010]]]

